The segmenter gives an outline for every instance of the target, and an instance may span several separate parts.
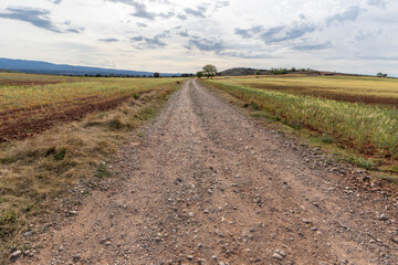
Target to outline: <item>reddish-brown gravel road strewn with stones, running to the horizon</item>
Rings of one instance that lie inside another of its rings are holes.
[[[398,264],[397,204],[325,161],[189,81],[17,264]]]

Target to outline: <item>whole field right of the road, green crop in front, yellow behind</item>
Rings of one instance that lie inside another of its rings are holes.
[[[365,156],[398,159],[398,81],[360,76],[227,77],[206,81],[294,128]],[[258,114],[260,115],[260,114]]]

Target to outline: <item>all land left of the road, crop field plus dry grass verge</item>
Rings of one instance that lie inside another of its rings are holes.
[[[0,252],[70,186],[108,177],[105,162],[184,81],[0,74]]]

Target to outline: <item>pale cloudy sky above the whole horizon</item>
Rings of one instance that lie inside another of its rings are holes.
[[[398,76],[397,0],[1,0],[0,57],[137,71]]]

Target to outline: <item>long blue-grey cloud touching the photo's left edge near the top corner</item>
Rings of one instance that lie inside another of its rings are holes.
[[[55,33],[65,33],[65,32],[81,33],[82,31],[84,31],[84,28],[64,30],[56,26],[49,18],[49,14],[51,14],[50,11],[44,9],[8,8],[7,11],[8,12],[6,13],[1,12],[0,18],[28,22],[38,28]]]

